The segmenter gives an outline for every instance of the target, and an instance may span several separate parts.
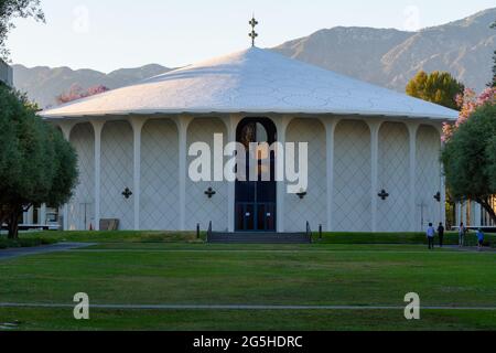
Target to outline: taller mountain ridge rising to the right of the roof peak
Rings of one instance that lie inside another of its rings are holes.
[[[496,8],[417,32],[339,26],[274,50],[398,92],[405,92],[420,69],[448,71],[467,87],[481,90],[492,76],[496,31],[489,25],[494,21]]]

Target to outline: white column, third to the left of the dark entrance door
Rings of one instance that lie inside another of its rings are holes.
[[[134,157],[133,157],[133,191],[132,196],[134,200],[134,231],[140,231],[140,200],[141,200],[141,131],[143,129],[144,124],[147,122],[147,118],[143,117],[132,117],[129,119],[129,122],[132,126],[133,132],[133,147],[134,147]]]

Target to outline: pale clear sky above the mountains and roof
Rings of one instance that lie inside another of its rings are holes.
[[[41,0],[46,23],[15,20],[11,62],[110,72],[184,66],[337,25],[414,31],[495,7],[494,0]]]

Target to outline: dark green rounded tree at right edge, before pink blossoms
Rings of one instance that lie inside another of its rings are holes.
[[[449,137],[442,152],[446,185],[455,200],[479,203],[496,222],[496,99],[475,108]]]

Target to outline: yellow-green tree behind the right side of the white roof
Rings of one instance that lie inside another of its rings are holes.
[[[439,104],[446,108],[457,109],[456,97],[463,94],[464,85],[450,73],[419,72],[407,85],[409,96]]]

